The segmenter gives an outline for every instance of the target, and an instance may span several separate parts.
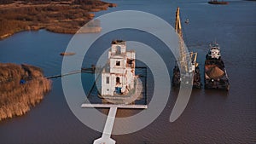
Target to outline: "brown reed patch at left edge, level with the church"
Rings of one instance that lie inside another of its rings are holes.
[[[20,84],[20,80],[26,80]],[[30,65],[0,63],[0,121],[28,112],[51,89],[43,71]]]

